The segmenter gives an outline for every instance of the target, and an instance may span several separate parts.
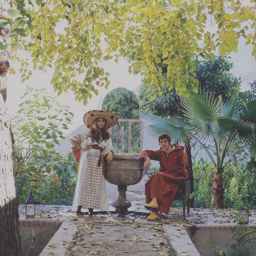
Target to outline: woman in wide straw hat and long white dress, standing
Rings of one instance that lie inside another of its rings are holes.
[[[85,113],[84,123],[87,128],[70,137],[72,150],[78,162],[73,207],[77,214],[84,214],[82,207],[108,211],[108,198],[104,178],[104,156],[112,161],[113,145],[108,128],[117,123],[117,115],[108,110],[91,110]]]

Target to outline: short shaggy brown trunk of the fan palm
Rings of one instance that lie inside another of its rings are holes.
[[[212,206],[217,208],[224,208],[224,189],[223,189],[223,168],[216,168],[217,172],[213,172],[212,180]]]

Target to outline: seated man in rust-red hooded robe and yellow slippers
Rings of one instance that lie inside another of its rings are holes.
[[[152,211],[148,220],[159,219],[158,211],[168,214],[180,181],[188,178],[184,147],[171,145],[171,137],[165,133],[158,136],[158,141],[161,146],[159,150],[144,150],[140,153],[140,158],[145,158],[145,169],[149,169],[150,160],[160,163],[159,172],[154,173],[145,184],[145,207]]]

